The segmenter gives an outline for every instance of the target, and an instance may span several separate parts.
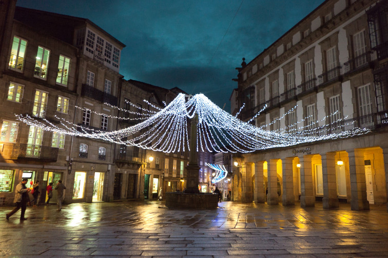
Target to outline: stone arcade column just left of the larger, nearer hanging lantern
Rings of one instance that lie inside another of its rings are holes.
[[[323,208],[339,207],[337,197],[337,177],[336,177],[336,153],[328,152],[321,154],[322,176],[323,176]]]

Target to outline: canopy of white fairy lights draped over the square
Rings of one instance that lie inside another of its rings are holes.
[[[151,104],[146,100],[145,102]],[[120,112],[122,116],[109,117],[135,120],[137,123],[111,132],[74,124],[61,117],[56,117],[60,121],[59,124],[53,124],[47,119],[36,119],[28,115],[16,115],[16,117],[30,126],[40,127],[45,131],[101,139],[165,153],[190,150],[188,126],[194,116],[198,116],[197,152],[207,150],[208,152],[248,153],[299,143],[353,137],[370,132],[367,128],[356,127],[352,121],[346,121],[346,118],[334,120],[333,117],[336,114],[328,115],[307,125],[304,125],[304,121],[309,117],[305,117],[294,124],[283,126],[283,128],[266,130],[266,128],[274,127],[271,126],[274,123],[278,123],[287,115],[295,112],[297,106],[294,106],[269,124],[256,127],[249,122],[259,116],[265,106],[248,122],[243,122],[237,116],[232,116],[220,109],[203,94],[195,96],[179,94],[163,109],[152,105],[153,110],[146,110],[130,102],[128,104],[134,106],[137,111],[128,111],[109,105],[113,109],[122,111]],[[84,110],[79,106],[76,106],[76,108]],[[93,113],[103,115],[97,112]],[[326,123],[326,121],[332,120],[334,121]],[[319,126],[321,121],[324,121],[324,125]]]

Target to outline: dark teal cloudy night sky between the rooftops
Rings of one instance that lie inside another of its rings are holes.
[[[230,112],[236,67],[248,63],[323,0],[18,0],[88,18],[123,42],[120,74],[203,93]]]

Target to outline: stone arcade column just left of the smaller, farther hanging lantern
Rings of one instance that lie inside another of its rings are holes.
[[[293,173],[293,159],[285,158],[283,162],[283,205],[294,205],[294,173]]]

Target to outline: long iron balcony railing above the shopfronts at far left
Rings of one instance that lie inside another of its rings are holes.
[[[58,148],[25,143],[14,144],[11,159],[18,158],[56,161],[58,159]]]

